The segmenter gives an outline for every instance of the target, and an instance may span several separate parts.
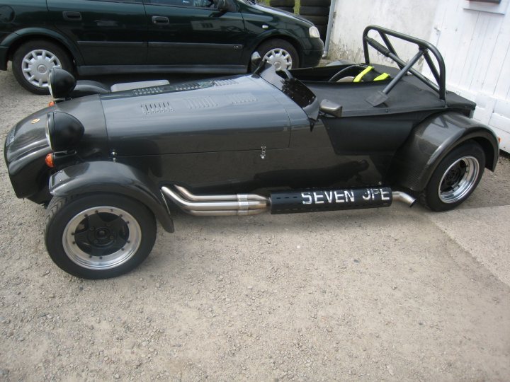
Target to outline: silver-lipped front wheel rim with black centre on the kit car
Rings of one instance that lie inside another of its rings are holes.
[[[140,247],[142,230],[118,207],[95,207],[75,215],[64,228],[62,244],[72,262],[90,270],[108,270],[130,260]]]

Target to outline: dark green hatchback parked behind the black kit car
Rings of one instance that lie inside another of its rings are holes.
[[[251,55],[316,66],[310,21],[251,0],[0,0],[0,70],[47,93],[53,66],[79,75],[244,73]]]

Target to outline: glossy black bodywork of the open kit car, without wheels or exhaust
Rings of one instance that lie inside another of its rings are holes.
[[[86,96],[57,103],[19,122],[6,139],[6,163],[18,197],[114,192],[147,204],[171,231],[163,185],[196,194],[289,187],[424,189],[441,158],[475,139],[494,170],[494,133],[468,115],[475,104],[433,91],[406,76],[387,103],[365,96],[380,83],[327,83],[344,66],[230,76]],[[378,66],[382,71],[392,69]],[[412,97],[406,95],[411,92]],[[342,117],[319,113],[321,100],[343,105]],[[75,161],[50,176],[44,124],[64,111],[84,125]],[[40,119],[32,123],[34,120]]]

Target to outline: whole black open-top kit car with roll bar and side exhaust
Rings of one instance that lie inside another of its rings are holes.
[[[390,37],[418,52],[402,61]],[[436,47],[376,26],[363,45],[361,65],[276,71],[261,62],[249,75],[117,92],[54,69],[57,103],[6,138],[13,188],[47,204],[48,253],[86,278],[140,264],[156,221],[174,231],[174,207],[196,216],[415,198],[435,211],[457,207],[494,170],[497,137],[471,119],[474,103],[446,91]],[[370,64],[369,46],[399,69]],[[434,81],[413,69],[421,57]]]

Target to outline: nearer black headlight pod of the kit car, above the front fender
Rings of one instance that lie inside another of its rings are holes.
[[[67,112],[47,113],[46,139],[53,151],[76,149],[84,131],[81,122]]]

